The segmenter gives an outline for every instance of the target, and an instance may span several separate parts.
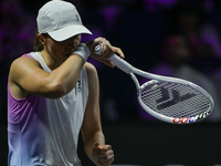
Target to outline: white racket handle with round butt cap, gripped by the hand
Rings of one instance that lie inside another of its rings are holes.
[[[98,43],[97,45],[94,46],[94,53],[97,55],[102,54],[102,51],[104,49],[104,45],[102,43]],[[112,63],[114,63],[114,65],[116,65],[118,69],[120,69],[122,71],[124,71],[127,74],[130,74],[133,72],[133,66],[131,64],[129,64],[128,62],[126,62],[125,60],[123,60],[122,58],[119,58],[116,54],[113,54],[109,58],[109,61],[112,61]]]

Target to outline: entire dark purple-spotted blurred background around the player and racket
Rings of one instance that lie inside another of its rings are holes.
[[[94,33],[119,46],[134,66],[204,87],[215,108],[191,125],[161,123],[137,103],[131,79],[90,59],[98,71],[106,142],[115,164],[221,165],[221,6],[219,0],[69,0]],[[7,80],[11,62],[33,48],[39,8],[46,0],[0,1],[0,165],[7,165]],[[147,80],[140,79],[140,83]],[[81,137],[81,136],[80,136]],[[213,152],[213,153],[211,153]],[[83,165],[93,165],[83,152]],[[126,165],[125,165],[126,166]]]

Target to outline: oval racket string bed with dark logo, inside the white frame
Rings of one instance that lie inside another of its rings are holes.
[[[140,97],[152,111],[169,117],[191,117],[207,112],[210,100],[185,84],[151,82],[143,85]]]

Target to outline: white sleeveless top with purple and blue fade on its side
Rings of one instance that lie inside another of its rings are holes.
[[[29,55],[51,72],[40,52]],[[77,142],[88,97],[85,68],[76,86],[61,98],[15,100],[9,87],[8,97],[9,166],[81,166]]]

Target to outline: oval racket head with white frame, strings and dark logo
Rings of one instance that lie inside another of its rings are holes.
[[[148,81],[138,87],[138,102],[154,117],[172,124],[201,121],[214,107],[209,93],[187,81]]]

